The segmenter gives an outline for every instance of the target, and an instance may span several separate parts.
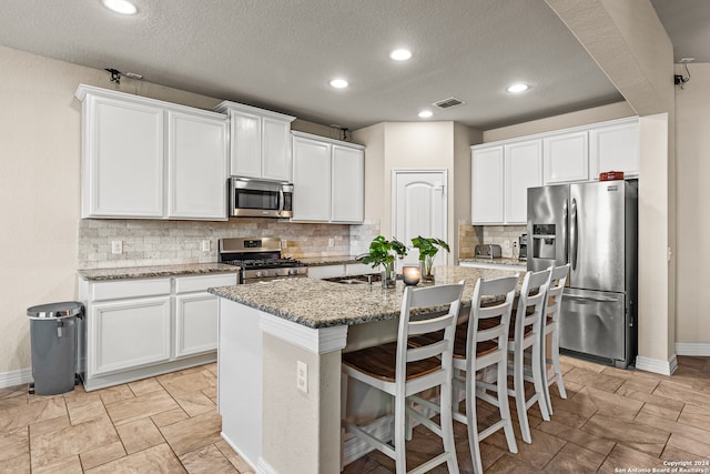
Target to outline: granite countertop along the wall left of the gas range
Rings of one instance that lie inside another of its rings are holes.
[[[109,281],[156,276],[202,275],[209,273],[236,273],[239,271],[239,266],[225,265],[224,263],[186,263],[182,265],[79,270],[79,276],[88,281]]]

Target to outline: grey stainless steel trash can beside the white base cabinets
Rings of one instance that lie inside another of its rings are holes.
[[[30,317],[32,379],[30,392],[57,395],[74,390],[77,380],[77,317],[84,305],[75,301],[27,309]]]

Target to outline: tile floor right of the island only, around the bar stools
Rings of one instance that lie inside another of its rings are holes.
[[[560,359],[567,400],[551,389],[555,413],[549,422],[537,406],[530,409],[532,444],[520,438],[514,410],[518,454],[510,454],[505,435],[496,432],[481,444],[486,473],[650,473],[668,468],[665,461],[697,462],[687,468],[698,471],[686,472],[710,473],[710,357],[678,356],[672,376]],[[478,403],[479,428],[496,420],[493,410]],[[454,430],[462,474],[473,473],[466,426],[455,423]],[[407,467],[430,457],[428,452],[440,452],[432,446],[440,450],[438,437],[417,426],[407,445]],[[372,452],[344,473],[389,474],[394,462]]]

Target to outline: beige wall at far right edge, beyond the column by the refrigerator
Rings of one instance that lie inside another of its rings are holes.
[[[676,88],[678,262],[676,342],[710,345],[704,291],[710,288],[710,63],[690,64],[691,80]],[[706,353],[707,355],[707,353]]]

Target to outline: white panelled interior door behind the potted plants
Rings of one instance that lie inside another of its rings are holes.
[[[418,235],[442,239],[448,243],[446,183],[446,170],[393,171],[392,234],[407,248],[412,246],[412,239]],[[418,259],[419,253],[412,249],[404,263],[416,264]],[[442,251],[436,254],[434,264],[444,265],[446,259],[446,251]]]

